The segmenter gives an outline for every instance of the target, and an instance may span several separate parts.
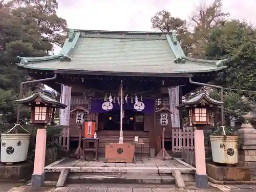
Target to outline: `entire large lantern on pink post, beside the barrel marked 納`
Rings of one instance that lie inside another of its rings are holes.
[[[177,109],[186,109],[189,124],[195,129],[195,153],[196,153],[196,186],[198,188],[208,187],[206,175],[204,132],[206,125],[210,124],[210,110],[221,108],[223,102],[210,98],[206,93],[200,93],[186,99]]]

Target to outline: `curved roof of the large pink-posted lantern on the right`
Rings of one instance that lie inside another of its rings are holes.
[[[210,98],[206,93],[200,93],[198,95],[195,95],[191,98],[186,99],[183,101],[180,105],[176,106],[177,109],[182,109],[182,108],[189,108],[191,105],[210,105],[210,106],[218,106],[220,107],[223,102],[217,101],[215,99]]]

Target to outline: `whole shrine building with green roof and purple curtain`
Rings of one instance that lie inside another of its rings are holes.
[[[104,153],[105,143],[119,141],[120,83],[123,86],[123,142],[133,142],[138,136],[145,143],[143,153],[156,155],[161,150],[162,127],[155,111],[163,101],[168,101],[168,88],[179,86],[181,103],[182,95],[197,88],[189,83],[189,78],[206,83],[226,68],[224,60],[187,57],[175,31],[71,29],[59,54],[19,58],[17,65],[28,70],[33,79],[56,75],[42,83],[59,93],[61,84],[71,87],[70,110],[82,105],[89,111],[86,119],[96,121],[100,153]],[[172,129],[175,128],[178,127],[172,127],[171,123],[166,126],[166,150],[172,150]],[[61,143],[69,151],[78,146],[74,113],[70,114],[70,125],[65,127]]]

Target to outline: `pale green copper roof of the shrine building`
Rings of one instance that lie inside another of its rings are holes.
[[[60,54],[19,58],[20,67],[53,71],[200,73],[226,68],[225,60],[186,57],[175,31],[70,30]]]

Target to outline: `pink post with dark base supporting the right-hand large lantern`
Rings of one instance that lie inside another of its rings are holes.
[[[208,176],[206,175],[204,131],[195,130],[195,156],[196,156],[196,187],[208,188]]]

